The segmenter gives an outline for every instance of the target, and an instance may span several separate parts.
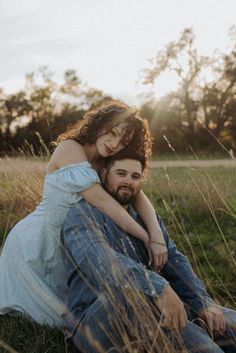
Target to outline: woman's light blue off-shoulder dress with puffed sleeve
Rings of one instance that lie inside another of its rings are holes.
[[[99,182],[87,161],[45,177],[41,203],[11,230],[0,256],[0,314],[18,310],[39,323],[63,325],[67,278],[61,226],[79,193]]]

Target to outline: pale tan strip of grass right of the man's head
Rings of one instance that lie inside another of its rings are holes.
[[[149,171],[145,190],[155,207],[164,200],[170,208],[186,209],[193,216],[236,214],[235,168],[160,167]]]

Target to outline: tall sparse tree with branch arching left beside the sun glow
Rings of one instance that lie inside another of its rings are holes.
[[[166,71],[175,72],[179,79],[179,88],[172,94],[179,105],[182,125],[187,127],[189,141],[194,135],[199,109],[199,75],[209,58],[199,56],[194,47],[195,36],[191,29],[185,29],[176,42],[170,42],[165,50],[159,51],[152,60],[153,67],[144,70],[144,84],[153,85]],[[172,104],[171,100],[169,100]],[[176,105],[175,104],[175,105]]]

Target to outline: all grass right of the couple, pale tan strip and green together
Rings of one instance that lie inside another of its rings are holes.
[[[158,168],[145,190],[211,295],[236,308],[235,168]]]

